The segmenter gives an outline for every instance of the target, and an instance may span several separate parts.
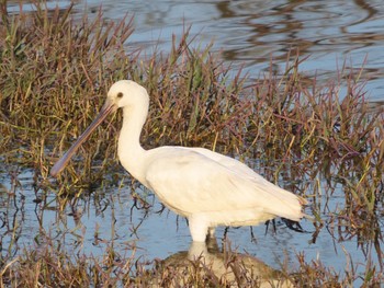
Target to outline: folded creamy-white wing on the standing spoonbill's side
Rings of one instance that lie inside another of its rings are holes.
[[[236,170],[236,165],[230,169],[194,149],[158,150],[147,163],[146,181],[163,204],[184,215],[257,208],[289,219],[301,218],[300,199],[294,194],[257,173],[251,177],[249,172]]]

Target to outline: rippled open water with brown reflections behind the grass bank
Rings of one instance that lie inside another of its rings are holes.
[[[286,53],[298,48],[310,56],[301,70],[326,80],[347,67],[361,68],[369,95],[384,100],[384,5],[373,1],[87,1],[88,11],[102,3],[108,19],[134,15],[129,46],[158,46],[167,51],[171,35],[192,25],[195,44],[214,41],[214,49],[251,78],[270,69],[283,71]],[[79,13],[83,2],[79,2]],[[159,45],[160,41],[160,45]]]

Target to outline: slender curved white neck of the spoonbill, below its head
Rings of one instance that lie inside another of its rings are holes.
[[[123,108],[123,126],[118,137],[118,159],[132,176],[143,183],[145,152],[139,139],[148,108]]]

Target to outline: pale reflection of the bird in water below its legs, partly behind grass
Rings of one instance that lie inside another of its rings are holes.
[[[216,239],[192,242],[187,252],[161,261],[158,287],[294,287],[283,273],[260,260],[230,251],[219,251]]]

